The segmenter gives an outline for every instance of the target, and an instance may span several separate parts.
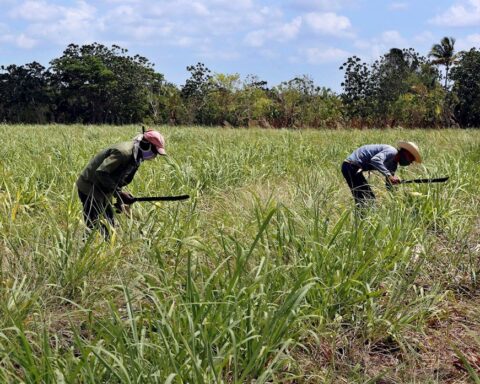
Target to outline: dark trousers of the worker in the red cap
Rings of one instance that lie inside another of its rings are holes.
[[[83,204],[83,219],[85,224],[90,229],[100,227],[105,240],[110,238],[110,231],[108,227],[103,224],[100,219],[104,216],[111,226],[115,225],[113,218],[113,208],[108,198],[95,199],[93,193],[86,195],[83,192],[78,191],[78,197]]]

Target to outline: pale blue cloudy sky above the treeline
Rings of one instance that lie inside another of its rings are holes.
[[[479,47],[479,27],[480,0],[0,0],[0,65],[48,66],[69,43],[96,41],[147,57],[178,85],[200,61],[270,86],[306,74],[338,92],[348,56],[426,55],[443,36]]]

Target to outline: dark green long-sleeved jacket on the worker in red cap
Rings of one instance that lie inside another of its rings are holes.
[[[141,163],[138,144],[127,141],[98,153],[87,164],[77,180],[80,192],[95,199],[111,198],[133,180]]]

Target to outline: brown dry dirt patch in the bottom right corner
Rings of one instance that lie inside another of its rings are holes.
[[[304,383],[472,383],[459,352],[480,375],[480,293],[445,301],[424,331],[404,335],[402,344],[348,333],[307,344],[295,356]]]

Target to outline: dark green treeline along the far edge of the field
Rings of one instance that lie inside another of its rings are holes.
[[[458,54],[455,40],[428,58],[393,48],[372,64],[343,63],[343,92],[308,76],[269,87],[256,76],[187,67],[177,86],[145,57],[118,46],[71,44],[45,68],[0,67],[0,122],[154,123],[262,127],[478,127],[480,50]]]

